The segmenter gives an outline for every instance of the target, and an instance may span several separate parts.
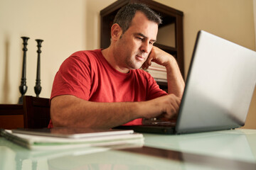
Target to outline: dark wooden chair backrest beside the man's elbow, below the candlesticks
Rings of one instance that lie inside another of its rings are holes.
[[[50,99],[23,96],[24,128],[47,128],[50,121]]]

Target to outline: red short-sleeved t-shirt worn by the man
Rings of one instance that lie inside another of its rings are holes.
[[[86,101],[148,101],[166,95],[147,72],[132,69],[122,73],[103,57],[101,50],[79,51],[68,57],[55,75],[50,99],[73,95]],[[126,125],[140,125],[142,119]],[[49,127],[53,127],[50,122]]]

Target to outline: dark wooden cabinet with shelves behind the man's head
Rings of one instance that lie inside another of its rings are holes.
[[[164,29],[164,34],[171,32],[169,27],[173,25],[173,32],[174,34],[171,36],[174,38],[174,45],[164,45],[160,43],[155,43],[157,47],[160,47],[162,50],[169,52],[171,55],[173,55],[177,62],[178,66],[181,69],[181,74],[184,77],[184,66],[183,66],[183,12],[178,11],[174,8],[171,8],[169,6],[165,6],[163,4],[160,4],[156,1],[151,0],[118,0],[114,2],[113,4],[110,4],[110,6],[107,6],[106,8],[102,9],[100,11],[100,47],[101,48],[107,48],[110,45],[110,28],[112,26],[112,23],[114,21],[114,16],[117,14],[117,11],[122,8],[122,6],[125,6],[130,3],[143,3],[149,6],[149,8],[153,9],[156,13],[159,13],[161,18],[163,19],[163,23],[159,26],[159,33],[161,28]],[[169,30],[168,30],[169,29]],[[158,82],[159,85],[166,85]]]

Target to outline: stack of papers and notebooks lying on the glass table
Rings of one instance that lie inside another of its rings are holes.
[[[56,130],[56,131],[54,131]],[[84,130],[73,133],[63,128],[41,130],[0,130],[7,140],[28,149],[70,149],[78,147],[103,147],[117,145],[143,145],[142,134],[133,130]]]

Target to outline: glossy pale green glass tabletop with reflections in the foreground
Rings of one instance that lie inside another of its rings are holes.
[[[256,169],[256,130],[144,137],[143,147],[54,152],[33,152],[0,137],[0,169]]]

